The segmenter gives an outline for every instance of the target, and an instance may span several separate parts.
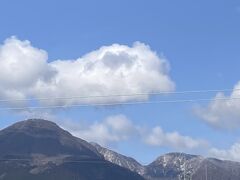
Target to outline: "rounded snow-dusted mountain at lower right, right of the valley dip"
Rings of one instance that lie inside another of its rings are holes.
[[[169,153],[146,166],[145,172],[146,179],[151,180],[239,180],[240,163]]]

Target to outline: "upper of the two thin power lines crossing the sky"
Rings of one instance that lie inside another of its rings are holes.
[[[25,99],[0,99],[0,102],[13,102],[13,101],[48,101],[48,100],[68,100],[68,99],[89,99],[89,98],[111,98],[111,97],[129,97],[129,96],[162,95],[162,94],[196,94],[196,93],[210,93],[210,92],[232,92],[232,91],[240,91],[240,89],[208,89],[208,90],[160,91],[160,92],[149,92],[149,93],[89,95],[89,96],[71,96],[71,97],[44,97],[44,98],[25,98]]]

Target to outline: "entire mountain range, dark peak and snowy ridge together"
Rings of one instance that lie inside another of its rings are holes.
[[[0,180],[239,180],[240,163],[169,153],[147,166],[30,119],[0,131]]]

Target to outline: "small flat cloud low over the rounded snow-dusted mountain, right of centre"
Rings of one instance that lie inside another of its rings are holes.
[[[164,132],[161,127],[154,127],[145,137],[145,142],[151,146],[164,146],[174,149],[194,149],[206,147],[208,144],[204,140],[193,139],[183,136],[178,132]]]

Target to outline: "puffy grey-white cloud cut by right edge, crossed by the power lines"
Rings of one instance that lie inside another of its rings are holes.
[[[195,113],[216,128],[236,129],[240,127],[240,82],[226,96],[218,93],[207,107],[195,108]],[[219,100],[220,99],[220,100]]]

